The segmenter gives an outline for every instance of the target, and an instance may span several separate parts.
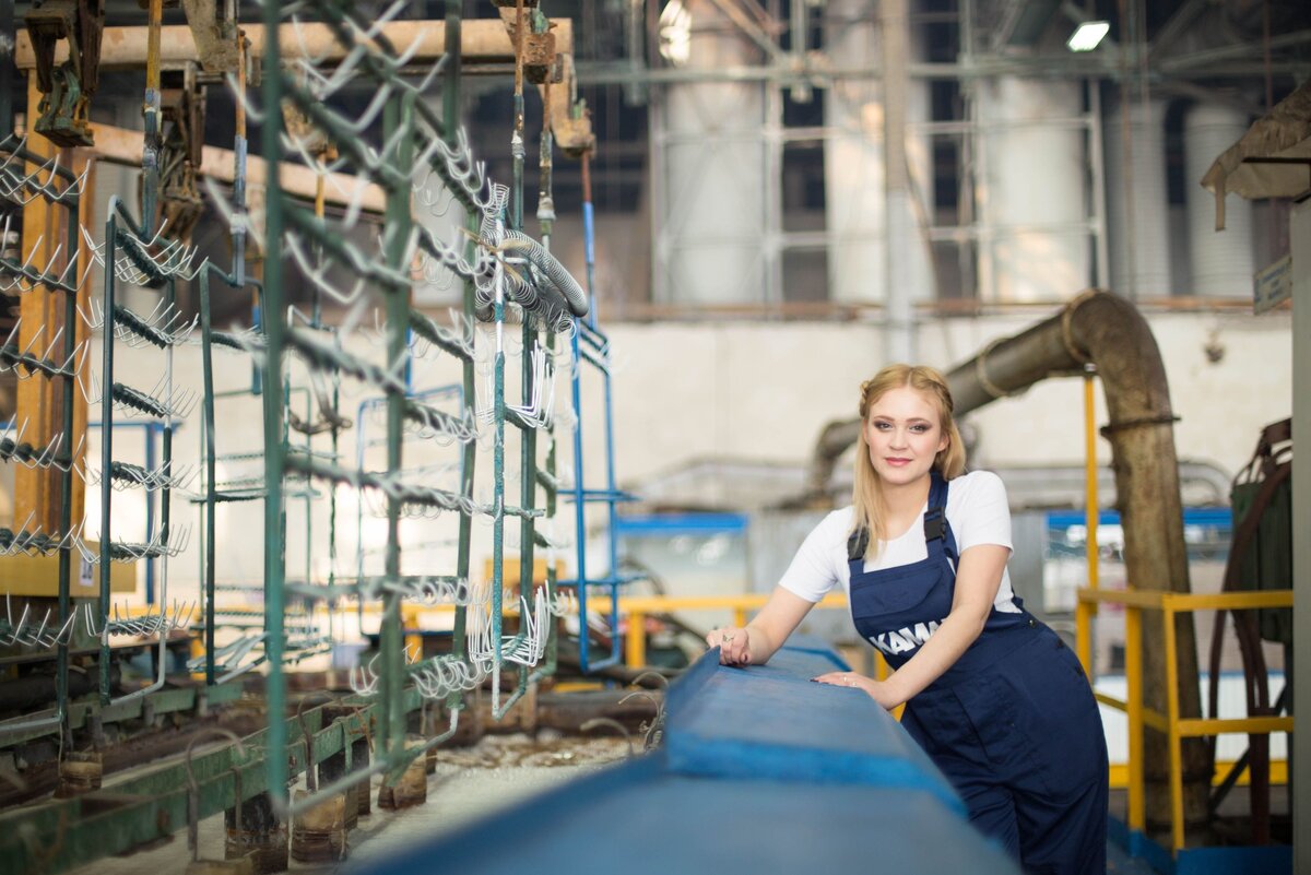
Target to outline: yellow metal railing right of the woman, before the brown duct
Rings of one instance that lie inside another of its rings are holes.
[[[1169,811],[1171,844],[1177,854],[1184,847],[1184,766],[1183,741],[1188,737],[1244,732],[1251,735],[1291,732],[1291,717],[1252,717],[1242,719],[1184,718],[1179,713],[1179,648],[1175,639],[1175,616],[1190,610],[1248,610],[1253,608],[1291,608],[1291,589],[1222,592],[1215,595],[1163,592],[1156,589],[1080,589],[1075,620],[1079,635],[1079,659],[1088,679],[1091,664],[1091,622],[1101,603],[1125,608],[1125,681],[1124,699],[1096,693],[1097,701],[1124,711],[1129,718],[1129,828],[1146,832],[1147,813],[1143,778],[1143,727],[1162,732],[1169,743]],[[1159,610],[1165,642],[1165,713],[1143,705],[1142,681],[1142,612]]]

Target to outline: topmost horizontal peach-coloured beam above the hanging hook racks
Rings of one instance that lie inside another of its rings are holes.
[[[573,21],[552,18],[552,33],[556,37],[556,51],[573,54]],[[262,25],[243,25],[250,41],[250,52],[258,56],[264,51],[265,29]],[[416,48],[413,63],[435,62],[446,54],[446,24],[442,21],[396,21],[385,25],[382,35],[399,50]],[[140,69],[146,65],[147,28],[105,28],[101,39],[100,68],[104,71]],[[321,24],[282,25],[278,29],[278,43],[287,58],[309,55],[332,64],[346,58],[346,48],[337,42],[332,29]],[[416,46],[417,43],[417,46]],[[460,25],[460,54],[469,63],[514,62],[514,45],[499,18],[465,21]],[[60,42],[55,48],[55,63],[68,58],[68,43]],[[160,30],[160,63],[165,68],[177,68],[197,63],[201,55],[195,48],[195,37],[185,25],[174,25]],[[37,65],[31,48],[31,38],[26,29],[17,31],[14,38],[14,63],[20,69],[33,69]]]

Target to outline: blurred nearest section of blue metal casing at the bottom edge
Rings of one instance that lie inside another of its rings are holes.
[[[679,775],[652,756],[368,871],[1017,875],[1019,868],[932,794]]]

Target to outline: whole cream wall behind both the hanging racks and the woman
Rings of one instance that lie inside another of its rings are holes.
[[[949,320],[924,325],[919,346],[924,359],[949,367],[978,351],[990,339],[1009,335],[1044,318],[1046,312],[1012,316]],[[367,322],[368,320],[366,320]],[[1176,413],[1179,456],[1185,460],[1210,461],[1232,473],[1251,455],[1260,427],[1287,417],[1291,410],[1291,317],[1278,312],[1261,317],[1209,313],[1156,313],[1150,316],[1167,371]],[[876,324],[814,322],[717,322],[717,324],[623,324],[610,327],[615,350],[614,413],[616,472],[621,486],[640,486],[662,473],[676,470],[697,458],[721,457],[802,465],[809,458],[822,426],[835,418],[852,415],[860,380],[872,375],[880,362],[881,329]],[[357,334],[349,346],[362,354],[380,356],[380,347]],[[489,346],[489,344],[488,344]],[[513,344],[511,344],[513,348]],[[1211,362],[1207,348],[1218,362]],[[100,362],[98,351],[92,362]],[[249,364],[244,355],[220,352],[218,362],[219,389],[249,385]],[[118,377],[132,385],[155,384],[163,364],[157,351],[122,350]],[[489,362],[484,365],[489,367]],[[507,368],[507,386],[517,397],[518,364]],[[294,380],[303,385],[299,369]],[[591,368],[583,379],[585,474],[589,487],[602,486],[604,469],[604,423],[602,418],[602,381]],[[177,354],[176,381],[199,389],[199,355],[194,347]],[[416,368],[414,385],[430,388],[459,380],[458,368],[448,356],[433,355]],[[350,380],[342,384],[342,405],[355,418],[359,402],[368,397]],[[557,409],[569,403],[568,368],[557,376]],[[298,402],[303,406],[304,401]],[[1101,401],[1099,398],[1099,406]],[[302,411],[302,415],[304,413]],[[971,417],[979,434],[977,466],[1023,466],[1082,462],[1083,410],[1082,389],[1076,380],[1050,380],[1017,398],[1007,398]],[[1105,422],[1104,409],[1099,422]],[[371,435],[380,435],[376,422],[368,424]],[[199,460],[199,414],[193,411],[177,436],[180,465]],[[510,431],[506,447],[510,482],[507,495],[517,503],[518,443]],[[96,435],[93,435],[93,439]],[[354,435],[342,440],[342,453],[354,460]],[[317,439],[319,449],[328,445]],[[142,461],[140,432],[126,432],[117,439],[115,457]],[[258,449],[262,447],[260,407],[256,400],[220,402],[220,452]],[[98,465],[98,443],[92,440],[92,460]],[[543,458],[545,448],[541,448]],[[568,431],[561,432],[558,447],[561,469],[566,478],[573,472],[573,445]],[[1101,441],[1103,460],[1109,460],[1109,445]],[[408,464],[440,465],[456,460],[454,447],[408,449]],[[489,502],[492,444],[484,439],[479,448],[477,498]],[[252,466],[228,465],[227,475],[249,473]],[[222,477],[223,474],[220,474]],[[443,474],[454,487],[454,472]],[[359,527],[353,490],[338,491],[338,565],[337,572],[354,571],[358,537],[366,544],[382,541],[384,527],[364,512]],[[98,512],[96,490],[89,490],[88,512],[94,533]],[[229,582],[256,582],[262,567],[264,541],[260,532],[258,504],[228,506],[219,513],[219,578]],[[288,506],[288,575],[300,576],[305,567],[304,500]],[[325,576],[328,565],[328,500],[326,493],[311,502],[315,524],[309,546],[309,570]],[[568,513],[568,506],[564,510]],[[115,493],[115,531],[136,538],[144,520],[139,495]],[[174,519],[181,524],[198,519],[186,500],[174,504]],[[589,517],[590,527],[602,524],[599,515]],[[412,520],[404,525],[405,540],[416,545],[409,550],[406,570],[450,572],[454,568],[454,517]],[[359,534],[362,533],[362,534]],[[173,561],[174,592],[194,593],[199,568],[199,527],[193,531],[187,550]],[[572,542],[572,517],[555,527],[555,534]],[[490,555],[490,527],[475,527],[475,572]],[[507,550],[518,542],[518,527],[507,527]],[[421,545],[421,546],[420,546]],[[566,550],[568,558],[570,553]],[[376,557],[380,568],[380,557]],[[600,557],[590,561],[594,571],[603,571]],[[376,571],[375,571],[376,572]],[[181,587],[181,589],[178,589]]]

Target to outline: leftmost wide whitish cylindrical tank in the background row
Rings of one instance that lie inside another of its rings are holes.
[[[711,0],[683,0],[676,26],[688,71],[759,62],[759,50]],[[669,16],[666,9],[666,16]],[[768,300],[766,271],[766,101],[759,81],[670,85],[654,107],[656,300],[741,304]]]

